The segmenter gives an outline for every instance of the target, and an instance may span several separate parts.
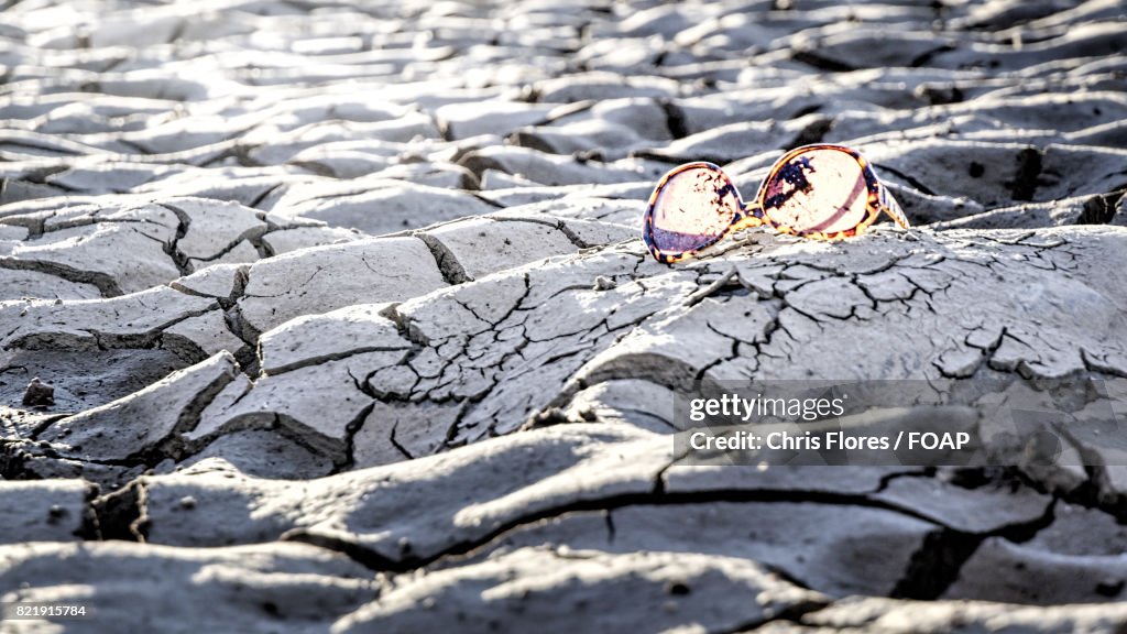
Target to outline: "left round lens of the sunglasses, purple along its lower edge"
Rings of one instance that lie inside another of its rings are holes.
[[[715,167],[690,167],[667,176],[653,200],[650,238],[666,254],[703,248],[731,226],[739,195]]]

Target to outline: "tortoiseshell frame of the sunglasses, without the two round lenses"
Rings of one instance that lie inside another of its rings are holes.
[[[766,196],[767,184],[771,183],[772,179],[774,179],[774,177],[779,174],[779,170],[786,167],[791,161],[791,159],[813,150],[834,150],[834,151],[845,152],[854,160],[857,160],[858,165],[861,167],[861,175],[864,178],[864,184],[866,187],[868,188],[869,196],[866,205],[864,217],[861,218],[860,222],[858,222],[850,229],[845,229],[842,231],[832,231],[832,232],[815,231],[815,230],[797,230],[793,227],[789,227],[787,224],[775,221],[774,219],[771,218],[771,215],[767,212],[764,211],[763,199]],[[669,179],[677,176],[682,171],[686,171],[690,169],[708,169],[709,171],[715,171],[718,173],[720,176],[722,176],[725,182],[727,183],[727,186],[731,187],[733,193],[736,194],[736,200],[739,202],[739,209],[736,211],[736,214],[731,219],[731,224],[729,224],[727,229],[721,231],[719,235],[709,238],[709,240],[702,244],[701,246],[683,252],[673,252],[673,253],[664,252],[654,241],[654,208],[657,204],[657,199],[662,195],[662,192],[665,190],[666,183],[668,183]],[[649,249],[649,253],[653,254],[658,262],[665,264],[673,264],[674,262],[680,262],[687,257],[692,257],[696,253],[707,249],[708,247],[720,241],[728,234],[731,234],[734,231],[740,231],[743,229],[748,229],[752,227],[767,226],[780,234],[799,236],[802,238],[809,238],[814,240],[841,240],[844,238],[851,238],[853,236],[860,236],[861,234],[863,234],[869,228],[870,224],[877,221],[877,218],[879,218],[882,212],[887,213],[897,224],[900,226],[900,228],[907,229],[911,227],[908,224],[907,217],[904,215],[904,211],[900,209],[900,205],[896,202],[896,199],[894,199],[891,193],[888,192],[888,187],[886,187],[880,182],[880,179],[877,178],[877,174],[872,170],[872,167],[869,165],[869,161],[867,161],[864,157],[861,156],[860,152],[858,152],[852,148],[846,148],[845,146],[835,146],[831,143],[815,143],[810,146],[802,146],[800,148],[795,148],[793,150],[790,150],[789,152],[783,155],[782,158],[777,160],[774,165],[771,166],[771,171],[767,173],[766,177],[760,184],[758,191],[755,194],[755,199],[749,203],[744,202],[743,196],[739,195],[739,190],[736,188],[736,185],[731,182],[731,178],[729,178],[728,175],[725,174],[724,169],[721,169],[716,164],[706,161],[695,161],[695,162],[686,162],[684,165],[680,165],[671,169],[668,174],[666,174],[665,176],[662,177],[660,180],[658,180],[657,187],[654,188],[654,193],[650,194],[649,196],[649,203],[646,205],[646,215],[642,221],[641,235],[642,239],[646,241],[646,247]]]

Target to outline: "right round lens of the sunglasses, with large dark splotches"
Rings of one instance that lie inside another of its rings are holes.
[[[763,211],[799,234],[835,234],[864,219],[869,190],[861,165],[838,150],[809,150],[791,157],[765,185]]]

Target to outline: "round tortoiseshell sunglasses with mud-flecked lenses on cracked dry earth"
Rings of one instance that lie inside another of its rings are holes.
[[[649,196],[642,238],[658,262],[672,264],[761,224],[816,240],[859,236],[880,212],[908,228],[900,205],[859,152],[804,146],[775,161],[751,203],[711,162],[675,167]]]

